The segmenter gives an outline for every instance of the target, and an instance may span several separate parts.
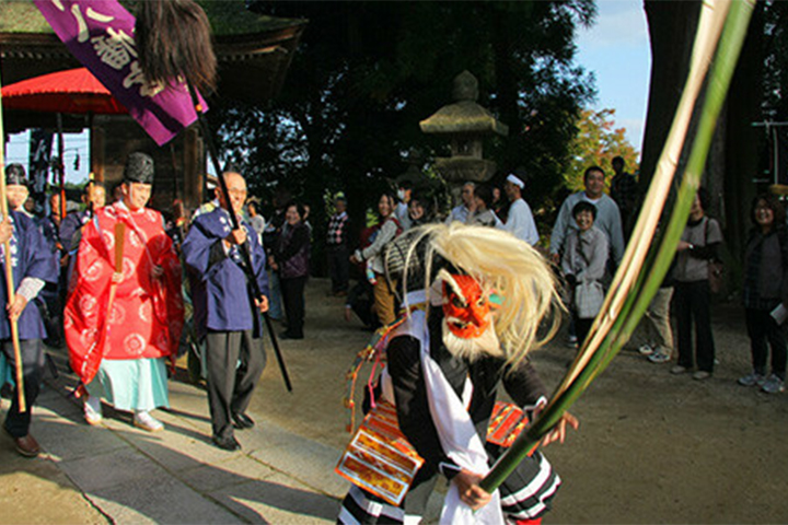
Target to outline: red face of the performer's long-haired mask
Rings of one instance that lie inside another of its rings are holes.
[[[443,314],[449,330],[462,339],[475,339],[490,325],[490,302],[471,276],[452,275],[443,281]],[[459,290],[457,290],[459,289]]]

